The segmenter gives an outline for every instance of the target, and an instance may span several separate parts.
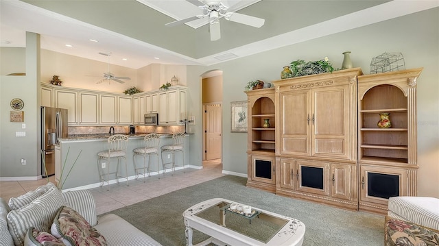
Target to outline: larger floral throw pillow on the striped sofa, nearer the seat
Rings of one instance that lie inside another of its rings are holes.
[[[51,226],[51,234],[60,238],[67,246],[107,245],[104,236],[91,227],[81,214],[67,206],[58,210]]]

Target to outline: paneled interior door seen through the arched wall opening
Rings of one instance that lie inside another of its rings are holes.
[[[221,104],[206,105],[206,160],[221,158]]]

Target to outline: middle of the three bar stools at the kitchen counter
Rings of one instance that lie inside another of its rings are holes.
[[[158,134],[147,134],[145,138],[143,138],[145,143],[145,147],[134,149],[134,155],[132,156],[134,160],[134,172],[136,173],[136,180],[139,178],[139,175],[143,175],[143,182],[146,181],[146,171],[148,173],[148,177],[151,176],[151,155],[157,156],[157,173],[160,173],[160,167],[158,166],[158,145],[160,144],[160,135]],[[139,167],[136,162],[136,156],[143,156],[143,167]],[[148,165],[146,167],[146,158],[148,160]],[[140,172],[143,171],[143,172]],[[160,178],[160,175],[157,175]]]

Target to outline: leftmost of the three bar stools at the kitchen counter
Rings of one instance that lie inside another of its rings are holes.
[[[108,137],[108,143],[110,147],[106,151],[100,151],[97,153],[97,169],[99,171],[99,180],[102,183],[101,186],[104,185],[104,182],[107,182],[107,186],[110,182],[110,175],[115,175],[117,184],[119,184],[119,177],[126,178],[126,184],[128,183],[128,169],[126,163],[126,147],[128,145],[128,136],[124,136],[122,134],[116,134]],[[116,171],[110,172],[110,159],[117,158],[117,167]],[[121,159],[125,160],[125,174],[126,176],[119,175],[119,166]],[[104,164],[102,160],[107,160],[108,163]],[[101,164],[102,163],[102,164]],[[106,172],[104,171],[106,169]]]

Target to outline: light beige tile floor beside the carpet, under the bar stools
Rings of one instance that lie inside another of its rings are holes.
[[[92,188],[91,193],[96,201],[97,214],[109,212],[123,206],[135,204],[152,197],[158,197],[170,193],[180,188],[200,184],[208,180],[213,180],[223,176],[222,163],[220,159],[203,162],[203,169],[185,169],[167,172],[165,175],[154,175],[147,177],[143,182],[143,177],[139,180],[130,180],[130,185],[126,182],[110,184],[107,187]],[[54,176],[49,177],[54,182]],[[1,181],[0,197],[9,201],[10,197],[18,197],[27,191],[35,190],[38,186],[45,184],[47,180],[36,181]]]

